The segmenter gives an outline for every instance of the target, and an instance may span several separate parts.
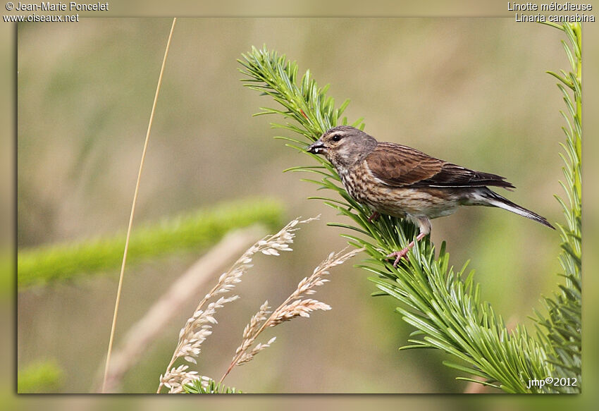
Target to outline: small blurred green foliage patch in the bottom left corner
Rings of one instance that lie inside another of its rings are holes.
[[[17,392],[55,393],[61,386],[62,379],[63,371],[56,362],[35,362],[18,372]]]

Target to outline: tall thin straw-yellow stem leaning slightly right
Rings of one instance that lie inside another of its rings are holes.
[[[140,190],[140,180],[142,178],[142,170],[144,168],[144,161],[146,158],[146,152],[148,148],[149,135],[152,130],[152,122],[154,121],[154,112],[156,111],[156,101],[158,101],[158,94],[160,92],[160,85],[162,83],[162,75],[164,73],[164,66],[166,66],[166,56],[168,56],[168,49],[171,47],[171,38],[173,37],[173,30],[175,29],[175,23],[177,18],[173,18],[173,25],[171,25],[171,32],[168,35],[168,41],[166,42],[166,50],[164,51],[164,58],[162,59],[162,66],[160,68],[160,75],[158,77],[158,85],[156,85],[156,94],[154,94],[154,104],[152,104],[152,113],[150,114],[148,130],[146,133],[146,140],[144,141],[144,149],[142,151],[142,160],[140,161],[140,171],[137,173],[137,183],[135,183],[135,192],[133,194],[133,204],[131,206],[131,215],[129,217],[129,226],[127,228],[127,237],[125,239],[125,250],[123,251],[123,263],[121,264],[121,276],[118,278],[118,289],[116,290],[116,302],[114,304],[114,315],[112,319],[112,327],[110,331],[110,341],[108,344],[108,351],[106,352],[106,367],[104,367],[104,379],[102,380],[102,393],[106,388],[106,380],[108,378],[109,367],[110,367],[110,355],[112,352],[112,345],[114,341],[114,331],[116,329],[116,318],[118,314],[118,305],[121,301],[121,290],[123,288],[123,277],[125,274],[125,262],[127,261],[127,251],[129,249],[129,238],[131,235],[131,227],[133,225],[133,216],[135,216],[135,204],[137,204],[137,193]]]

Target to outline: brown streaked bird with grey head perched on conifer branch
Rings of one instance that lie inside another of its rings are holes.
[[[416,239],[387,256],[395,257],[394,267],[416,241],[431,233],[431,219],[449,216],[462,205],[499,207],[555,230],[545,217],[490,190],[514,189],[505,177],[457,166],[405,145],[378,142],[350,125],[327,130],[306,150],[323,154],[333,164],[347,194],[372,211],[369,223],[387,214],[416,224]]]

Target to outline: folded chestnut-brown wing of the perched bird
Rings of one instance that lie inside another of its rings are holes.
[[[366,157],[373,176],[392,187],[514,188],[502,176],[469,170],[404,145],[380,142]]]

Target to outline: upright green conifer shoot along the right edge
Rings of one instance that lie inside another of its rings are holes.
[[[564,269],[566,283],[560,286],[560,292],[552,298],[545,297],[545,307],[548,318],[538,314],[538,322],[548,330],[548,340],[554,352],[550,354],[550,362],[555,365],[552,376],[556,378],[575,378],[577,386],[556,386],[562,393],[579,393],[581,381],[581,226],[582,226],[582,191],[581,191],[581,159],[582,159],[582,57],[581,57],[581,26],[564,23],[557,26],[566,33],[570,45],[562,40],[572,71],[562,75],[548,71],[560,80],[557,84],[564,95],[567,113],[560,111],[567,128],[562,127],[566,134],[566,144],[562,148],[566,155],[560,154],[564,160],[565,183],[562,187],[568,197],[564,202],[555,196],[562,204],[566,226],[558,225],[562,238],[562,254],[560,263]],[[565,87],[564,87],[565,86]],[[572,93],[574,101],[572,99]]]

